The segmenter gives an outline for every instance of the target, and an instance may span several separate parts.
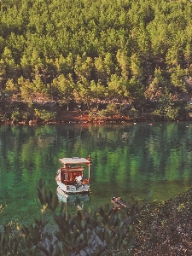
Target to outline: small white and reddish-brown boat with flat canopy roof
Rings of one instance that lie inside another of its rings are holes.
[[[90,193],[90,155],[87,159],[80,157],[61,158],[62,167],[56,172],[55,181],[65,195]],[[84,168],[88,167],[88,177],[84,177]]]

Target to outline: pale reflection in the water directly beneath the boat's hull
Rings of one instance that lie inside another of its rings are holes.
[[[77,210],[83,210],[84,202],[90,202],[90,194],[85,195],[67,195],[60,187],[57,187],[56,193],[59,201],[67,206],[75,206]]]

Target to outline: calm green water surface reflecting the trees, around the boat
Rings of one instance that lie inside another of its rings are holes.
[[[192,184],[192,123],[0,125],[0,204],[7,204],[1,224],[38,218],[38,179],[55,193],[58,158],[89,154],[85,207],[111,204],[111,196],[144,199],[149,191],[151,200],[164,201]],[[68,203],[67,211],[74,207]]]

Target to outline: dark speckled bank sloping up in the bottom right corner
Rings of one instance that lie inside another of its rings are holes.
[[[151,202],[137,224],[134,256],[192,255],[192,188],[176,198]]]

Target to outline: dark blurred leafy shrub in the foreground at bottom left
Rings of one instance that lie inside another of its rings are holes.
[[[20,225],[16,221],[3,225],[0,231],[0,255],[130,255],[134,245],[133,222],[145,207],[133,201],[129,208],[110,209],[108,205],[77,212],[73,217],[58,207],[57,195],[47,192],[42,178],[37,183],[38,207],[50,211],[56,230],[46,230],[48,222],[35,219],[34,224]]]

